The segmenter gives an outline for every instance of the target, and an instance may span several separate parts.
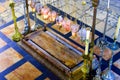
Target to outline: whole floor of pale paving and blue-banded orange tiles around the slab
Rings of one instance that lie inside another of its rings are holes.
[[[22,0],[15,1],[15,12],[19,18],[23,15]],[[30,1],[30,0],[29,0]],[[91,0],[86,0],[83,7],[82,0],[40,0],[42,4],[49,3],[78,20],[92,25],[93,7]],[[111,0],[106,35],[113,39],[118,17],[120,16],[120,0]],[[72,7],[73,6],[73,7]],[[97,9],[96,30],[103,33],[106,20],[107,0],[100,0]],[[31,8],[29,8],[31,11]],[[86,19],[83,19],[85,17]],[[21,17],[22,18],[22,17]],[[0,0],[0,80],[59,80],[45,66],[38,63],[31,55],[24,51],[16,42],[11,40],[14,27],[11,24],[12,16],[9,0]],[[30,20],[31,25],[33,20]],[[6,24],[10,25],[6,25]],[[23,19],[18,22],[20,31],[23,30]],[[4,27],[7,26],[7,27]],[[117,38],[120,43],[120,31]],[[112,71],[116,80],[120,79],[120,49],[115,52]],[[115,71],[114,71],[114,70]],[[31,72],[31,74],[29,74]],[[117,72],[117,73],[116,73]]]

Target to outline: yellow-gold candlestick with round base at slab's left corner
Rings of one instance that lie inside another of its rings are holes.
[[[22,34],[19,32],[18,27],[17,27],[16,16],[15,16],[15,11],[14,11],[15,3],[10,3],[9,6],[12,10],[12,16],[13,16],[14,28],[15,28],[15,34],[12,36],[12,40],[18,42],[22,39]]]

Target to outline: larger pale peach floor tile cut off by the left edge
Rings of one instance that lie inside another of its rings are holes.
[[[13,48],[9,48],[0,53],[0,72],[12,66],[23,57],[16,52]]]

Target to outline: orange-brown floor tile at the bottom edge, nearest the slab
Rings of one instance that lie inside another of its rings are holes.
[[[26,62],[16,70],[7,74],[5,78],[7,80],[35,80],[41,74],[42,72],[35,68],[30,62]]]

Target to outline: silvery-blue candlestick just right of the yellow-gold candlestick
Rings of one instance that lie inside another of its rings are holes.
[[[26,0],[23,0],[23,7],[24,7],[24,30],[22,31],[23,35],[26,35],[29,33],[29,26],[27,21],[27,15],[26,15]]]

